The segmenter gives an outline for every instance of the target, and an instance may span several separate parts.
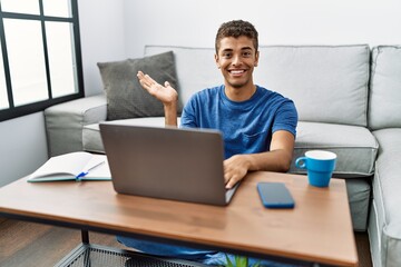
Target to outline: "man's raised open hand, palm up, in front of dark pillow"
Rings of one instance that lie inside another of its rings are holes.
[[[147,90],[151,96],[160,100],[165,106],[175,103],[178,99],[177,91],[169,85],[168,81],[164,86],[157,83],[150,76],[138,71],[137,77],[140,86]]]

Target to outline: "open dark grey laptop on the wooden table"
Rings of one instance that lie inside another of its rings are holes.
[[[216,206],[228,205],[238,184],[224,184],[219,131],[100,123],[119,194]]]

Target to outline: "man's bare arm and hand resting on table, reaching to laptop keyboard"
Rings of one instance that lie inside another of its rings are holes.
[[[270,151],[235,155],[224,160],[226,188],[232,188],[250,170],[285,172],[290,169],[295,137],[286,130],[277,130],[272,136]]]

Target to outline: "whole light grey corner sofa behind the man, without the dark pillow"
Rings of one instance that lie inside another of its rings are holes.
[[[212,48],[147,46],[144,56],[173,51],[184,105],[197,90],[221,85]],[[401,266],[401,47],[265,46],[254,81],[294,100],[300,122],[294,159],[310,149],[338,155],[354,230],[368,229],[374,266]],[[45,111],[50,156],[102,152],[98,123],[107,96]],[[163,127],[163,117],[109,123]],[[292,164],[291,171],[304,174]],[[371,189],[373,188],[373,189]],[[373,192],[373,194],[372,194]]]

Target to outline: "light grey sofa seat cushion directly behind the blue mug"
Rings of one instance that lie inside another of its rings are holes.
[[[366,177],[374,172],[378,142],[360,126],[300,121],[290,171],[305,174],[295,167],[295,159],[311,149],[324,149],[338,155],[335,177]]]

